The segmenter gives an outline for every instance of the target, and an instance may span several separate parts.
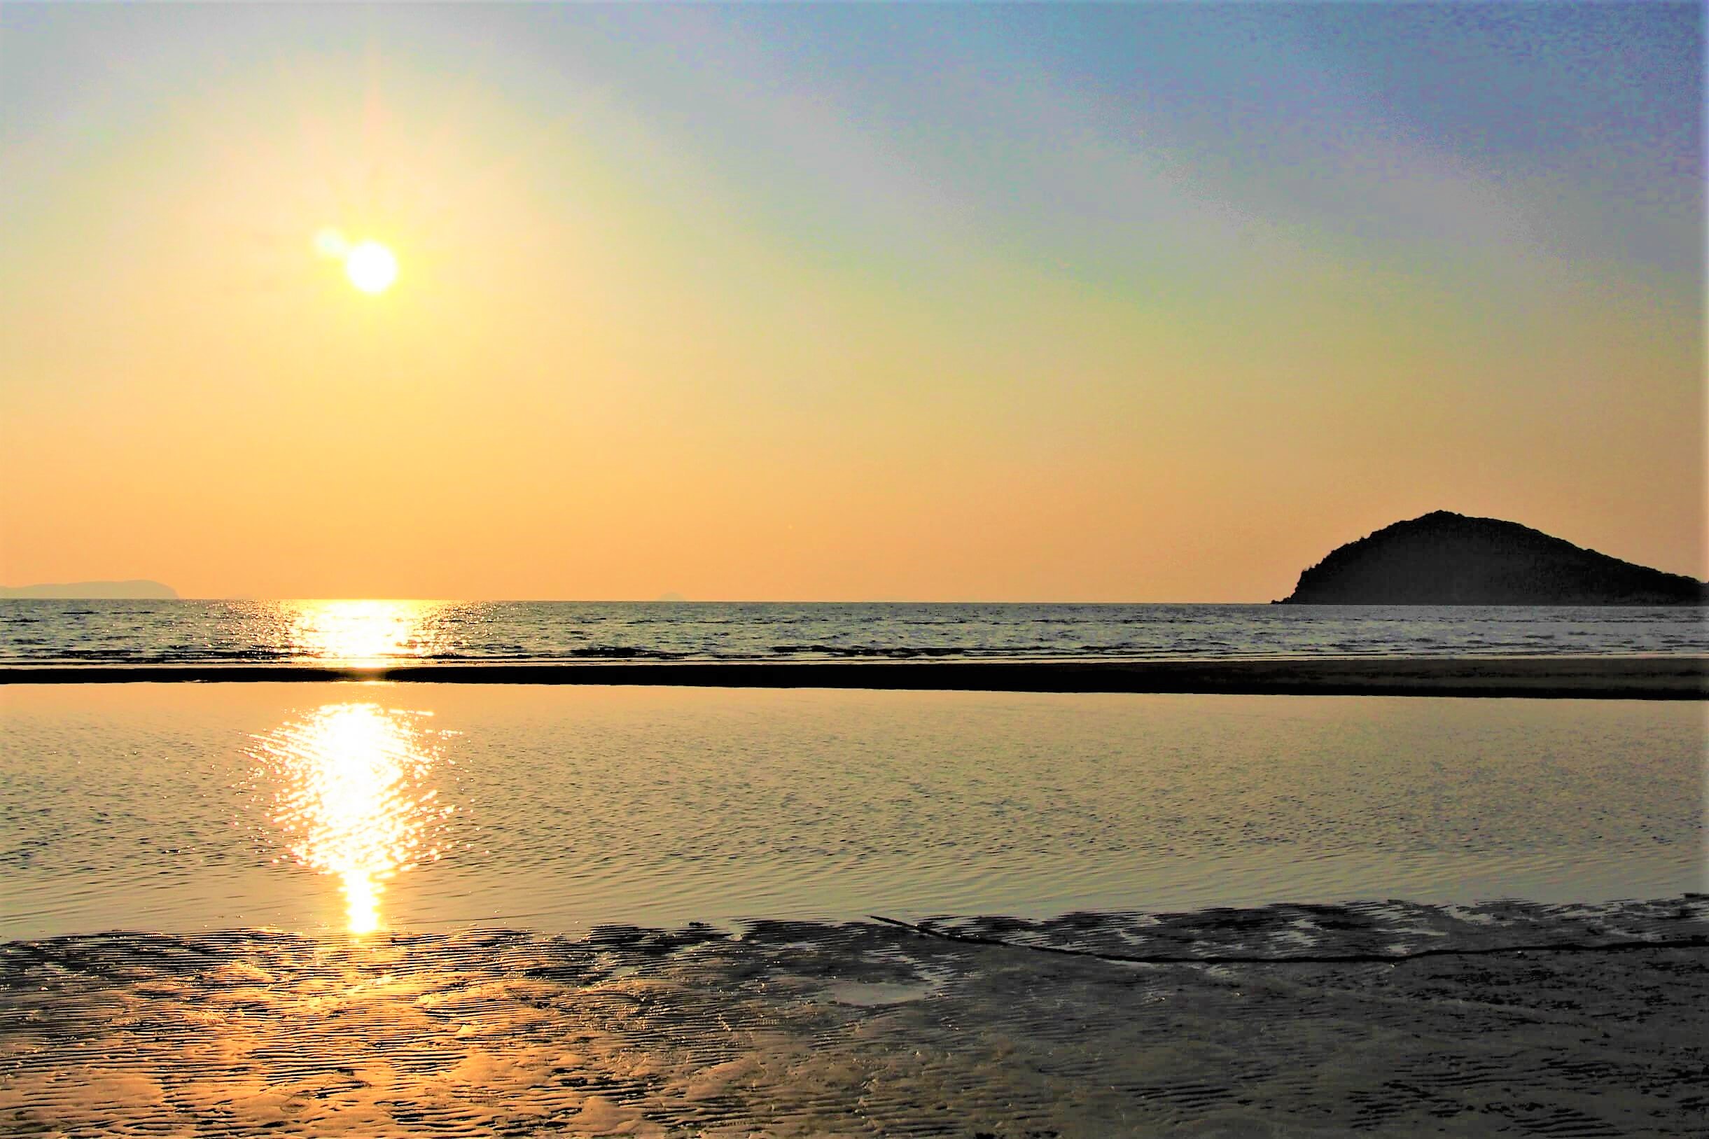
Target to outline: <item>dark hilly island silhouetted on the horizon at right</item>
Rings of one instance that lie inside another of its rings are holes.
[[[1277,605],[1709,605],[1709,584],[1436,511],[1335,548]]]

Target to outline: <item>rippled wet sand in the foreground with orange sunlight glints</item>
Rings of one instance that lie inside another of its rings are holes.
[[[17,941],[0,1132],[1700,1134],[1706,919],[1690,895],[931,927],[1010,944],[880,922]],[[1323,956],[1347,960],[1299,960]]]

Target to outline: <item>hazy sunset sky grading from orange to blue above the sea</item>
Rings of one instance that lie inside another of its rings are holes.
[[[1434,509],[1709,577],[1702,43],[3,3],[0,582],[1266,601]]]

